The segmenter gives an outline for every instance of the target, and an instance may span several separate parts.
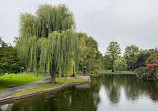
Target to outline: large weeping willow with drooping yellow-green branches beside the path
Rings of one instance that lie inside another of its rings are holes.
[[[24,13],[20,21],[20,37],[17,39],[19,55],[31,71],[51,75],[68,75],[72,67],[78,67],[80,39],[74,32],[73,14],[65,5],[42,5],[36,15]]]

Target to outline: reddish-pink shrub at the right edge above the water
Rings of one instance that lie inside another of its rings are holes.
[[[155,74],[158,70],[158,59],[154,59],[150,64],[147,64],[147,70],[150,71],[150,74]]]

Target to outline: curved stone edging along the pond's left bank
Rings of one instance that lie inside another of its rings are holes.
[[[70,83],[62,84],[61,86],[58,86],[56,88],[51,88],[51,89],[47,89],[47,90],[43,90],[43,91],[30,93],[30,94],[24,94],[24,95],[20,95],[20,96],[13,96],[13,97],[0,99],[0,105],[9,104],[16,100],[25,99],[25,98],[32,97],[32,96],[42,95],[42,94],[51,93],[51,92],[58,92],[66,87],[70,87],[70,86],[74,86],[74,85],[82,85],[82,84],[87,84],[87,83],[90,83],[90,81],[70,82]]]

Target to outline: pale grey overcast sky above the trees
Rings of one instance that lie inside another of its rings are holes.
[[[122,52],[131,44],[158,45],[158,0],[0,0],[0,37],[13,44],[21,13],[63,3],[74,13],[76,30],[97,40],[103,54],[110,41],[118,41]]]

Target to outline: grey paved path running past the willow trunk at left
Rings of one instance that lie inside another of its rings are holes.
[[[39,81],[30,83],[30,84],[27,84],[27,85],[24,85],[24,86],[14,87],[14,88],[12,88],[12,89],[10,89],[8,91],[1,92],[0,93],[0,99],[10,97],[12,94],[15,94],[15,93],[18,93],[18,92],[22,92],[22,91],[25,91],[27,89],[34,88],[34,87],[38,86],[39,84],[45,83],[45,82],[48,82],[48,81],[50,81],[50,77],[46,77],[46,78],[44,78],[42,80],[39,80]]]

